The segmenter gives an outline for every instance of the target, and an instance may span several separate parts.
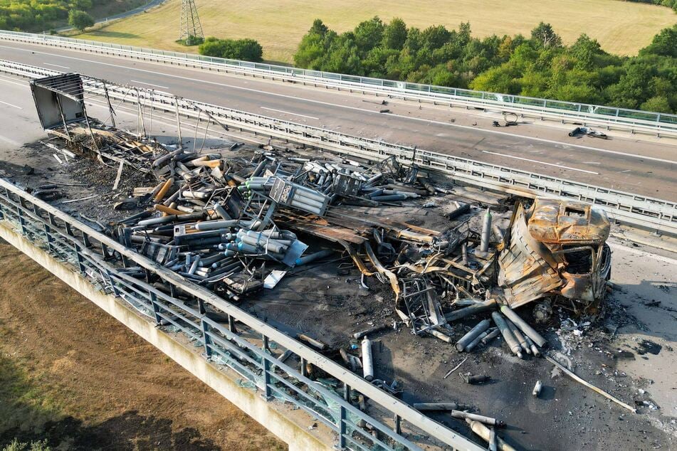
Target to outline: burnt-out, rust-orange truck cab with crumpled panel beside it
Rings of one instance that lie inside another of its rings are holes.
[[[561,296],[576,310],[597,307],[611,273],[610,228],[604,211],[585,203],[536,198],[528,210],[520,203],[498,257],[508,305]]]

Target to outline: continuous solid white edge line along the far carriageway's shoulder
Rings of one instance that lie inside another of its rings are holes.
[[[100,65],[110,65],[115,68],[120,68],[120,65],[117,64],[111,64],[111,63],[103,63],[101,61],[95,61],[95,60],[88,60],[85,58],[75,58],[74,56],[66,56],[66,55],[58,55],[57,53],[48,53],[48,52],[41,52],[41,51],[31,51],[26,48],[16,48],[16,47],[11,47],[11,46],[0,46],[0,48],[10,48],[11,50],[15,51],[23,51],[23,52],[31,52],[31,53],[41,53],[43,55],[51,55],[51,56],[56,56],[57,58],[68,58],[71,60],[78,60],[78,61],[84,61],[85,63],[95,63],[95,64],[100,64]],[[274,95],[276,97],[284,97],[287,99],[294,99],[294,100],[300,100],[302,102],[313,102],[317,103],[318,105],[327,105],[330,107],[338,107],[338,108],[344,108],[347,110],[355,110],[355,111],[361,111],[361,112],[366,112],[374,115],[379,115],[382,116],[382,113],[379,113],[377,111],[372,111],[372,110],[365,110],[364,108],[358,108],[358,107],[350,107],[348,105],[339,105],[331,102],[322,102],[321,100],[312,100],[312,99],[305,99],[303,97],[296,97],[294,95],[286,95],[286,94],[278,94],[276,92],[270,92],[270,91],[264,91],[264,90],[257,90],[253,89],[251,87],[242,87],[242,86],[236,86],[236,85],[228,85],[226,83],[218,83],[214,81],[209,81],[209,80],[201,80],[198,78],[190,78],[190,77],[184,77],[182,75],[173,75],[173,74],[168,74],[168,73],[157,73],[157,71],[154,70],[146,70],[146,69],[140,69],[140,68],[130,68],[128,66],[124,66],[125,69],[128,70],[137,70],[138,72],[144,72],[144,73],[151,73],[156,76],[164,76],[164,77],[172,77],[172,78],[179,78],[181,80],[189,80],[189,81],[194,81],[198,83],[207,83],[209,85],[216,85],[216,86],[223,86],[223,87],[231,87],[233,89],[239,89],[239,90],[245,90],[245,91],[251,91],[251,92],[259,92],[261,94],[266,94],[266,95]],[[429,120],[429,119],[423,119],[421,117],[409,117],[409,116],[403,116],[403,115],[397,115],[397,114],[391,114],[389,117],[399,117],[402,119],[408,119],[408,120],[415,120],[419,122],[427,122],[429,124],[440,124],[440,125],[446,125],[448,127],[456,127],[456,128],[461,128],[461,129],[469,129],[469,130],[474,130],[476,132],[483,132],[483,133],[491,133],[491,134],[498,134],[502,136],[507,136],[507,137],[512,137],[515,139],[527,139],[530,141],[535,141],[535,142],[545,142],[548,144],[556,144],[559,146],[567,146],[567,147],[574,147],[576,149],[585,149],[585,150],[592,150],[594,152],[602,152],[605,154],[614,154],[614,155],[620,155],[620,156],[627,156],[629,158],[637,158],[637,159],[644,159],[644,160],[649,160],[649,161],[658,161],[660,163],[668,163],[668,164],[677,164],[677,161],[674,160],[668,160],[668,159],[662,159],[662,158],[656,158],[654,156],[644,156],[644,155],[637,155],[637,154],[628,154],[626,152],[618,152],[616,150],[608,150],[608,149],[599,149],[599,147],[590,147],[590,146],[582,146],[581,144],[569,144],[566,142],[561,142],[561,141],[555,141],[553,139],[545,139],[545,138],[536,138],[536,137],[527,137],[523,136],[520,134],[512,134],[512,133],[507,133],[507,132],[499,132],[498,130],[488,130],[488,129],[481,129],[477,127],[472,127],[470,125],[461,125],[461,124],[451,124],[450,122],[441,122],[441,121],[436,121],[436,120]]]

